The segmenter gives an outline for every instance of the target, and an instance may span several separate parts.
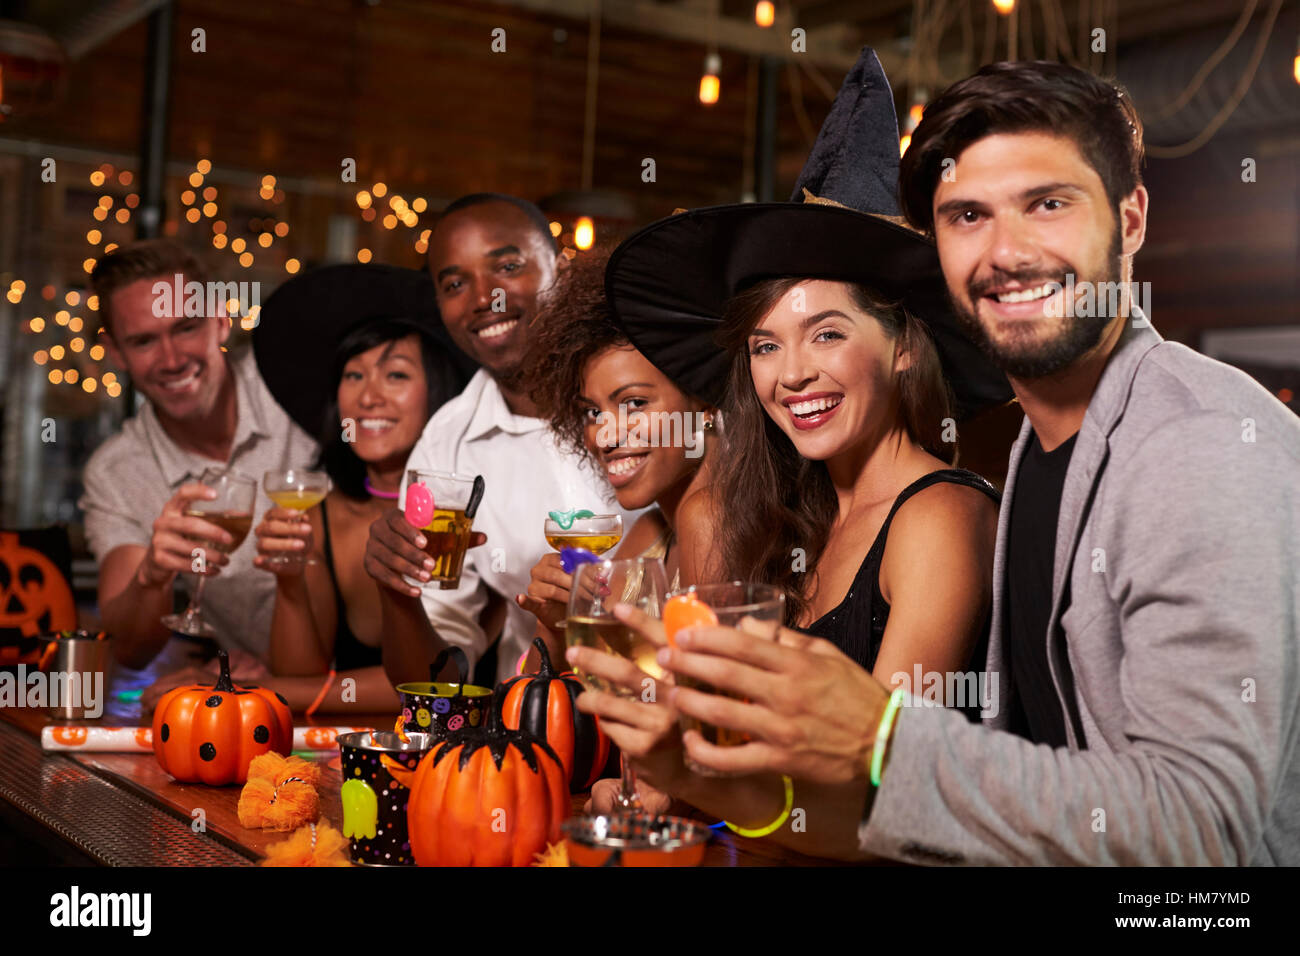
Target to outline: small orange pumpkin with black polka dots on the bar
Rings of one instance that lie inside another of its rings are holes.
[[[254,757],[268,750],[287,757],[294,743],[287,701],[261,687],[237,687],[229,654],[218,654],[216,685],[178,687],[153,710],[153,753],[181,783],[244,783]]]

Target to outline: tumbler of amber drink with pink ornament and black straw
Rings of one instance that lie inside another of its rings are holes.
[[[407,520],[424,533],[424,553],[433,558],[430,581],[443,591],[460,587],[460,571],[469,549],[469,531],[482,502],[482,476],[469,477],[445,471],[407,472],[402,509]],[[424,581],[411,580],[412,587]]]

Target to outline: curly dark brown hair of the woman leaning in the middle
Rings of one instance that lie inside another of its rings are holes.
[[[584,437],[586,412],[577,401],[582,372],[594,355],[630,345],[604,298],[604,265],[612,251],[603,246],[578,255],[555,276],[533,320],[536,355],[524,382],[560,447],[582,458],[590,457]]]

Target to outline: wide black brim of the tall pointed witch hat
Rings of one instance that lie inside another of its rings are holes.
[[[814,203],[693,209],[628,238],[604,276],[632,343],[710,403],[722,399],[731,364],[715,341],[727,303],[780,277],[857,282],[900,302],[935,339],[959,419],[1011,397],[1006,377],[958,328],[933,243],[881,216]]]

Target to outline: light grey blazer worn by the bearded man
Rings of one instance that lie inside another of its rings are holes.
[[[909,862],[1300,865],[1300,420],[1140,316],[1075,442],[1043,636],[1069,745],[904,708],[862,849]],[[1069,662],[1069,669],[1065,666]]]

